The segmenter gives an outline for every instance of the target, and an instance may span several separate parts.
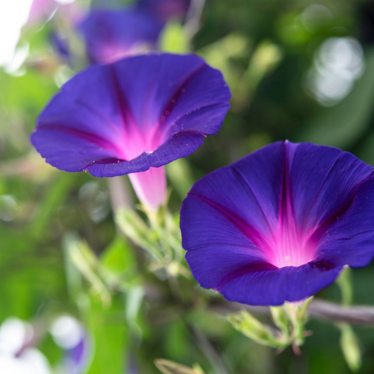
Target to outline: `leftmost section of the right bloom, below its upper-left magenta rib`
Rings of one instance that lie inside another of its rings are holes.
[[[187,262],[204,288],[218,288],[233,272],[266,262],[238,222],[200,198],[190,195],[183,202],[180,225]]]

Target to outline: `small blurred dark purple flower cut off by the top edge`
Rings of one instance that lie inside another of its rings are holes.
[[[138,8],[152,13],[160,20],[184,18],[191,0],[140,0]]]

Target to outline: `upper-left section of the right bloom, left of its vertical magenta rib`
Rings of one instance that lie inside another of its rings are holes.
[[[192,187],[189,196],[225,207],[236,220],[245,222],[243,230],[257,238],[253,238],[254,243],[262,241],[278,225],[284,155],[283,142],[268,145],[202,178]]]

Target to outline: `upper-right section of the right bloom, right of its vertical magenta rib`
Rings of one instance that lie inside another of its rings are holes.
[[[293,213],[298,229],[314,232],[352,199],[373,168],[353,154],[310,143],[295,147],[290,161]]]

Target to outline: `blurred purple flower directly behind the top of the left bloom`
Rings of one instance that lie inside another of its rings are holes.
[[[79,25],[93,63],[112,62],[146,48],[154,49],[161,29],[158,19],[135,8],[96,9]]]

